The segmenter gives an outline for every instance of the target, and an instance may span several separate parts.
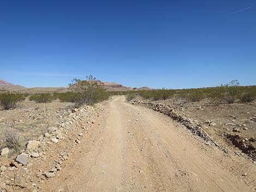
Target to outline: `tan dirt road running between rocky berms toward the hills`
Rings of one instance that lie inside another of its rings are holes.
[[[168,117],[115,97],[44,191],[252,191]]]

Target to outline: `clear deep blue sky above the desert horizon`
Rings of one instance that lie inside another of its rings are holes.
[[[66,86],[256,84],[256,1],[0,1],[0,79]]]

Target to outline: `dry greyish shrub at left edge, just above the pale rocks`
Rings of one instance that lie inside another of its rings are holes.
[[[13,148],[15,151],[19,151],[23,145],[23,139],[21,138],[21,136],[9,129],[9,128],[4,128],[1,130],[1,147],[8,147],[8,148]]]

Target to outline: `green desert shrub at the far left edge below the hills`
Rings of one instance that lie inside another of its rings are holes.
[[[0,94],[0,106],[4,109],[15,108],[17,102],[23,100],[25,100],[24,96],[14,92],[4,92],[3,94]]]

